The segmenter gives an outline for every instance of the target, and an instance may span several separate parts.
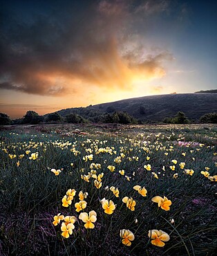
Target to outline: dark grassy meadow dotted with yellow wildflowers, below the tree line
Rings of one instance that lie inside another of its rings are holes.
[[[0,131],[0,255],[214,255],[217,127]]]

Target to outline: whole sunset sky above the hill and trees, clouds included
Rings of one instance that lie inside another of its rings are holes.
[[[217,2],[1,0],[0,112],[216,89]]]

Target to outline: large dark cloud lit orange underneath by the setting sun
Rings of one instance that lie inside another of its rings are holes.
[[[14,18],[3,16],[0,89],[58,96],[95,86],[124,91],[164,76],[171,53],[147,52],[133,30],[141,10],[167,8],[157,2],[132,10],[131,1],[69,1],[25,19],[6,10]]]

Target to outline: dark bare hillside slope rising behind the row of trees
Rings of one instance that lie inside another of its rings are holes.
[[[151,95],[91,105],[88,107],[62,109],[57,111],[61,116],[77,113],[89,120],[102,116],[104,113],[126,111],[134,118],[143,122],[157,122],[175,116],[182,111],[190,119],[198,120],[200,116],[217,111],[216,93],[183,93]]]

